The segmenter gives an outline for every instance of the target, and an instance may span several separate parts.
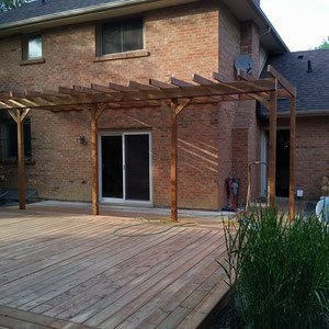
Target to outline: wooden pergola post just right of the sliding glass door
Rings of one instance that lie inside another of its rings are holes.
[[[171,100],[171,220],[178,222],[178,181],[177,181],[177,154],[178,154],[178,128],[177,128],[178,101]]]

